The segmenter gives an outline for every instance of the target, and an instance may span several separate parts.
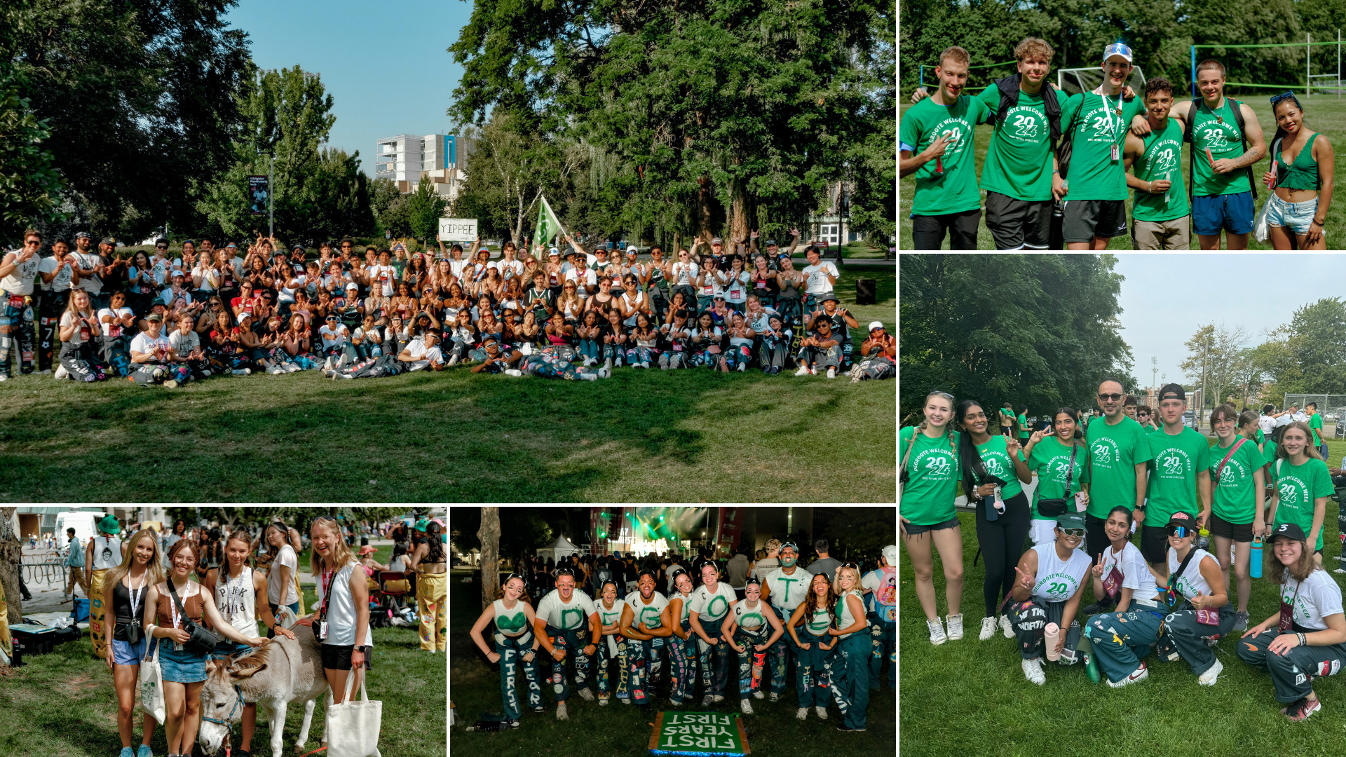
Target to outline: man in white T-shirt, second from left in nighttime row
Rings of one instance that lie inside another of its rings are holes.
[[[568,721],[565,700],[569,699],[569,676],[565,661],[575,661],[575,686],[586,702],[594,700],[588,682],[590,656],[598,651],[603,626],[598,621],[594,599],[575,587],[575,571],[556,568],[556,589],[537,603],[533,629],[546,653],[552,656],[552,688],[556,691],[556,719]],[[587,643],[587,644],[586,644]]]

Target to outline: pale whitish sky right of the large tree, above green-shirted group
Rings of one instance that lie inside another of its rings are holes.
[[[1121,338],[1131,345],[1135,376],[1148,387],[1187,383],[1179,366],[1184,342],[1202,325],[1242,325],[1246,346],[1257,346],[1265,331],[1289,323],[1295,310],[1322,298],[1346,296],[1346,255],[1311,253],[1193,253],[1117,255],[1121,283]],[[1217,294],[1221,292],[1221,294]],[[1151,373],[1149,358],[1159,373]]]

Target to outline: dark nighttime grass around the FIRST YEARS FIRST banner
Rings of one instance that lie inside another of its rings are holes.
[[[668,684],[661,684],[657,703],[651,713],[642,713],[634,704],[622,704],[615,696],[607,707],[586,702],[577,695],[567,700],[569,721],[556,719],[556,700],[549,686],[544,686],[542,703],[545,714],[534,714],[524,709],[522,725],[517,730],[498,733],[467,733],[467,723],[481,718],[481,713],[503,713],[499,690],[499,664],[486,661],[481,649],[467,636],[476,617],[481,616],[481,582],[462,583],[470,571],[455,570],[448,590],[448,653],[450,653],[450,698],[456,707],[459,725],[452,729],[454,754],[482,754],[490,757],[627,757],[642,754],[654,729],[656,707],[668,711]],[[487,626],[483,637],[490,644],[493,626]],[[549,668],[541,668],[549,672]],[[668,663],[665,663],[668,669]],[[887,671],[884,671],[887,675]],[[616,671],[612,671],[614,687]],[[594,687],[592,675],[590,686]],[[572,680],[573,686],[573,680]],[[596,690],[595,690],[596,691]],[[682,711],[739,713],[738,679],[730,682],[724,702],[703,709],[697,704],[684,704]],[[526,704],[526,688],[521,692]],[[596,694],[595,694],[596,696]],[[789,754],[791,757],[836,757],[840,754],[892,754],[896,742],[892,713],[896,707],[891,690],[882,694],[870,692],[868,730],[864,733],[840,733],[836,704],[829,707],[828,719],[821,722],[810,711],[806,721],[794,717],[797,709],[794,686],[786,690],[779,702],[767,699],[752,700],[752,715],[743,715],[748,746],[752,754]],[[742,713],[739,713],[742,715]],[[647,717],[646,717],[647,715]]]

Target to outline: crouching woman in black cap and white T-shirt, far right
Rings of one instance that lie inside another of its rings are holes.
[[[1238,659],[1271,673],[1280,714],[1304,721],[1323,709],[1312,680],[1338,672],[1346,660],[1342,590],[1314,562],[1304,529],[1283,523],[1268,537],[1267,578],[1280,585],[1280,612],[1248,629]]]

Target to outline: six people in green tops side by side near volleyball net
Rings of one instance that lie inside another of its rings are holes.
[[[973,129],[993,124],[981,170],[985,224],[996,249],[1108,249],[1128,233],[1127,190],[1135,190],[1136,249],[1246,249],[1254,230],[1259,180],[1252,166],[1268,154],[1257,113],[1225,96],[1225,66],[1195,66],[1199,98],[1179,102],[1174,85],[1154,77],[1144,92],[1127,85],[1132,50],[1108,44],[1102,84],[1066,96],[1047,81],[1055,51],[1026,38],[1018,73],[980,96],[962,94],[970,57],[940,55],[933,94],[918,89],[902,116],[900,167],[915,175],[915,249],[977,249],[981,195]],[[1263,214],[1276,249],[1327,249],[1323,224],[1333,198],[1334,154],[1326,135],[1304,124],[1294,93],[1271,98],[1276,135]],[[1182,171],[1183,147],[1190,164]],[[1129,171],[1129,172],[1128,172]]]

